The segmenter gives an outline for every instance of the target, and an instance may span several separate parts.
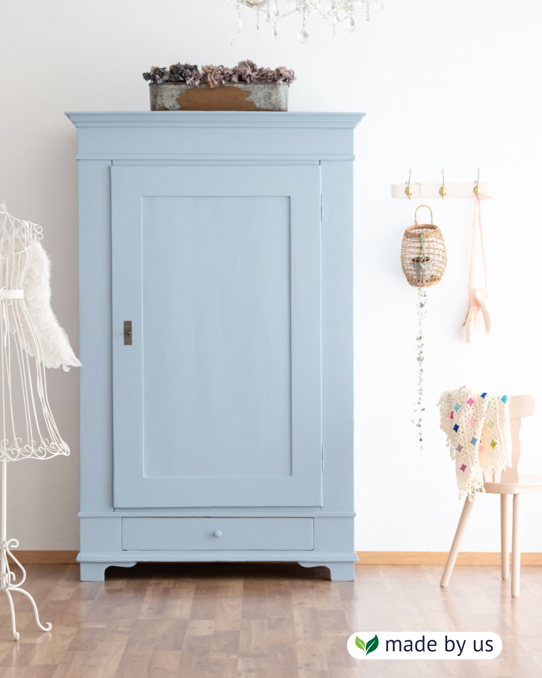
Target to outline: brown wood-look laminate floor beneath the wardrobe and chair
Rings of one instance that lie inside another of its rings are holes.
[[[362,565],[356,582],[289,564],[136,565],[105,583],[75,565],[29,565],[30,605],[16,598],[20,641],[0,598],[1,678],[360,678],[542,676],[542,567],[522,568],[519,599],[497,567]],[[354,631],[494,631],[491,661],[363,662]]]

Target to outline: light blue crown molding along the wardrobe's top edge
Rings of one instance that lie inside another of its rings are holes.
[[[68,111],[76,127],[350,127],[364,113],[270,111]]]

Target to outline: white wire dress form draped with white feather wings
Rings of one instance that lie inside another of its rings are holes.
[[[30,599],[42,631],[50,631],[51,624],[41,624],[33,597],[20,588],[26,572],[10,551],[19,544],[6,538],[7,462],[70,454],[51,412],[45,367],[63,364],[66,370],[66,365],[81,364],[50,308],[49,260],[39,242],[42,237],[40,226],[12,217],[0,203],[0,589],[9,601],[15,640],[14,591]],[[22,572],[18,583],[8,556]]]

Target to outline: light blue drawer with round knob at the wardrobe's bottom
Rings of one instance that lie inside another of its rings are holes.
[[[123,518],[125,551],[311,551],[312,518]]]

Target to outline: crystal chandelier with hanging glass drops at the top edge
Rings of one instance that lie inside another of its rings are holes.
[[[339,24],[346,23],[346,30],[352,33],[356,30],[356,22],[352,15],[364,10],[365,18],[369,21],[371,7],[375,9],[375,12],[379,12],[383,7],[383,0],[236,0],[237,37],[241,37],[242,4],[255,10],[257,31],[259,31],[262,18],[272,25],[271,37],[273,39],[276,39],[278,35],[276,24],[287,16],[297,14],[301,18],[301,30],[297,34],[297,39],[300,43],[306,43],[309,39],[307,19],[311,12],[331,24],[333,41],[335,41]]]

